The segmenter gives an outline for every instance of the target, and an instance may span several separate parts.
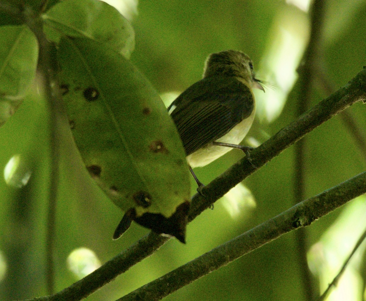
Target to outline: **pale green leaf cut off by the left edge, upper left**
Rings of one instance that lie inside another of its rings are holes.
[[[33,82],[38,44],[25,25],[0,27],[0,126],[14,114]]]

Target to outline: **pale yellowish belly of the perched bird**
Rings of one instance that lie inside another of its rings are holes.
[[[253,110],[248,118],[235,125],[235,127],[232,128],[226,135],[217,139],[216,142],[231,144],[239,144],[242,142],[253,123],[254,111],[255,110]],[[202,147],[194,153],[188,155],[187,162],[192,168],[205,166],[231,150],[231,147],[217,146],[210,143],[207,146]]]

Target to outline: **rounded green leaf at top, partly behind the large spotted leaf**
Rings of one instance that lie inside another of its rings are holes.
[[[66,0],[47,11],[45,33],[59,43],[62,36],[86,37],[109,45],[128,59],[135,47],[131,24],[111,5],[97,0]]]

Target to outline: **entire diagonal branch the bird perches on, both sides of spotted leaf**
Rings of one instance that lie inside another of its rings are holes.
[[[199,194],[194,195],[188,217],[189,221],[192,221],[232,187],[279,155],[287,147],[358,101],[366,101],[366,68],[359,72],[346,86],[321,101],[300,116],[298,120],[281,129],[276,135],[251,151],[252,163],[257,168],[254,168],[244,157],[203,189],[205,197]],[[168,238],[152,232],[80,281],[53,296],[33,300],[81,300],[126,272],[136,263],[152,255],[167,240]]]

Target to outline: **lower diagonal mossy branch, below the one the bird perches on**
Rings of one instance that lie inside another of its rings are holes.
[[[160,300],[198,278],[226,266],[235,259],[280,237],[282,234],[298,227],[309,226],[313,221],[363,193],[366,193],[366,172],[296,204],[276,217],[116,301]]]

